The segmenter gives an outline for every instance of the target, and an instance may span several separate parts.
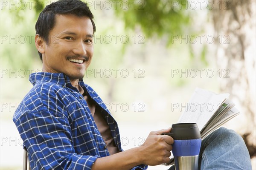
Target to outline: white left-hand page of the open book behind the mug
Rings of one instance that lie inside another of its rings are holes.
[[[229,94],[214,94],[196,88],[178,123],[197,123],[201,131],[228,97]]]

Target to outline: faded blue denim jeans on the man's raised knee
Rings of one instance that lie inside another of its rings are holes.
[[[242,137],[234,130],[219,128],[201,144],[201,170],[251,170],[249,152]],[[172,166],[169,170],[175,170]]]

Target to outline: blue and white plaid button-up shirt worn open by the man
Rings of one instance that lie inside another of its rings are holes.
[[[109,156],[86,100],[63,73],[33,73],[34,87],[24,97],[13,116],[32,170],[88,170],[97,158]],[[106,105],[96,92],[85,85],[102,108],[119,151],[119,130]],[[140,165],[133,169],[146,169]]]

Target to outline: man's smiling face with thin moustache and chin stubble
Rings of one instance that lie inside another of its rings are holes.
[[[89,17],[55,16],[55,26],[44,44],[43,70],[64,73],[71,80],[84,77],[93,57],[93,25]]]

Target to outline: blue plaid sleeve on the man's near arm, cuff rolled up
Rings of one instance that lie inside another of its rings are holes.
[[[23,113],[15,124],[32,169],[90,170],[98,158],[76,154],[68,120],[49,111]]]

